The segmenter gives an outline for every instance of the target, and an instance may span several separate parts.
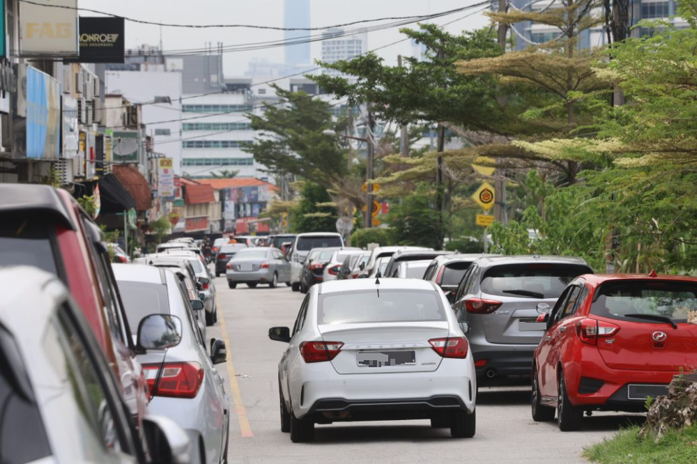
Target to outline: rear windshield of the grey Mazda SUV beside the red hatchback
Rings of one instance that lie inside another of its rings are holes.
[[[482,292],[523,298],[558,298],[564,288],[588,266],[562,263],[498,265],[484,272]]]

